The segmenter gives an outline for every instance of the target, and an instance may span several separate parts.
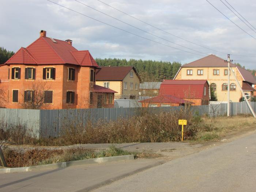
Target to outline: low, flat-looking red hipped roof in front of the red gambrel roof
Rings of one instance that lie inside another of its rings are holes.
[[[193,102],[189,102],[186,101],[184,99],[178,98],[178,97],[174,97],[172,95],[159,95],[157,97],[152,97],[149,99],[145,99],[143,101],[139,101],[139,102],[145,102],[145,103],[193,103]]]

